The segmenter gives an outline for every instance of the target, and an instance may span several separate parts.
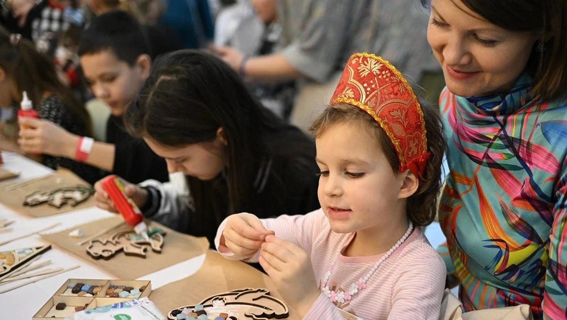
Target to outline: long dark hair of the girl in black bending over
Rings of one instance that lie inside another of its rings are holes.
[[[229,65],[198,50],[160,56],[137,101],[126,109],[124,122],[133,136],[174,148],[214,141],[222,127],[228,141],[230,213],[242,212],[252,201],[262,157],[315,158],[314,144],[305,134],[287,130],[289,125],[261,106]],[[214,182],[188,177],[188,183],[195,201],[195,223],[217,228],[227,212],[215,208]]]

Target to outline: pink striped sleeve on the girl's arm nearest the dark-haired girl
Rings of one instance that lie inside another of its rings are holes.
[[[256,254],[249,259],[242,259],[243,257],[234,255],[226,246],[219,245],[221,242],[222,232],[225,230],[228,219],[229,217],[227,217],[218,227],[217,237],[215,237],[214,241],[217,251],[231,260],[258,262],[259,254]],[[320,230],[325,227],[325,224],[328,224],[327,217],[325,217],[325,214],[321,209],[305,215],[287,216],[284,214],[277,218],[261,219],[261,221],[264,228],[275,231],[276,237],[302,247],[302,249],[307,251],[307,254],[309,255],[311,255],[311,245],[315,235],[319,234]]]

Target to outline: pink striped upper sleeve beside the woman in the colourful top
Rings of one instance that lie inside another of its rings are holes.
[[[441,257],[428,249],[404,261],[392,288],[388,319],[437,320],[439,317],[446,269]]]

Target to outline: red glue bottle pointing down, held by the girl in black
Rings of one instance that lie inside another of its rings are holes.
[[[122,214],[122,218],[126,224],[132,226],[137,234],[141,235],[147,241],[150,237],[147,235],[147,225],[143,222],[143,216],[138,206],[126,196],[124,185],[120,182],[116,175],[109,175],[103,179],[103,188],[108,192],[112,202],[116,205],[116,209]]]

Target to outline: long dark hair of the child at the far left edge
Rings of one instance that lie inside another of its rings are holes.
[[[40,106],[45,92],[56,95],[91,136],[91,118],[86,108],[71,89],[63,85],[49,57],[38,52],[29,40],[22,38],[12,44],[10,36],[0,28],[0,66],[14,80],[18,91],[27,92],[34,108]]]

